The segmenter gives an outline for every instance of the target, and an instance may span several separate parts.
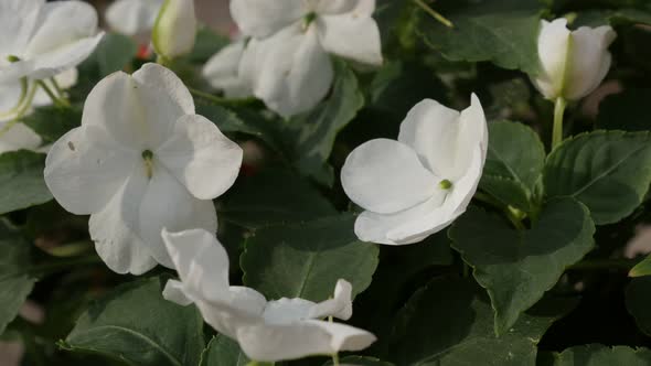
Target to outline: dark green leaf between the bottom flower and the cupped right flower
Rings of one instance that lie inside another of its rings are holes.
[[[323,301],[344,279],[356,295],[371,284],[378,249],[357,240],[354,220],[343,214],[257,230],[241,258],[244,283],[268,299]]]

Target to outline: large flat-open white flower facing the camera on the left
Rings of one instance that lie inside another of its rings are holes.
[[[182,82],[146,64],[95,86],[82,126],[47,154],[45,183],[65,209],[90,215],[90,237],[110,269],[138,274],[173,266],[162,227],[216,230],[211,200],[241,163],[242,149],[194,114]]]

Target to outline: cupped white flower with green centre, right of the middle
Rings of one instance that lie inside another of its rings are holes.
[[[398,140],[376,139],[345,160],[341,183],[363,207],[355,234],[363,241],[413,244],[461,215],[477,191],[488,148],[477,96],[458,112],[425,99],[407,114]]]

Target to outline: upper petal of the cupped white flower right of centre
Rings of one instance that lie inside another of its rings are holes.
[[[441,179],[457,174],[455,153],[460,114],[436,100],[425,99],[409,110],[398,141],[412,147],[430,171]]]

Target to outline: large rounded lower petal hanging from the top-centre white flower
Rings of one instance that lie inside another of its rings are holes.
[[[312,109],[332,85],[332,63],[321,47],[316,26],[303,33],[296,24],[265,41],[250,41],[245,55],[249,50],[257,68],[253,72],[254,94],[282,117]],[[246,72],[241,68],[239,74]]]

